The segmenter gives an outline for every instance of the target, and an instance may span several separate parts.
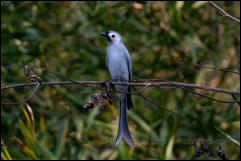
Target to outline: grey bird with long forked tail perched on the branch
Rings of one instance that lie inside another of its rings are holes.
[[[130,81],[132,79],[132,66],[130,54],[125,47],[121,35],[115,31],[102,32],[108,41],[106,51],[106,66],[109,69],[112,80]],[[131,92],[130,86],[116,85],[115,88],[123,92]],[[133,107],[130,94],[118,93],[119,102],[119,128],[115,145],[118,145],[121,138],[133,146],[133,141],[128,128],[127,108]]]

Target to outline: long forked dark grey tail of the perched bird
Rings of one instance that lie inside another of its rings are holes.
[[[127,96],[122,95],[118,98],[119,101],[119,128],[118,128],[118,135],[116,138],[115,145],[118,145],[121,141],[122,136],[124,137],[125,141],[130,145],[133,146],[133,141],[131,139],[131,135],[128,128],[127,122]]]

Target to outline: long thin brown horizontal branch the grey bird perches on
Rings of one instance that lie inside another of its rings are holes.
[[[29,69],[28,68],[28,65],[25,65],[25,73],[28,77],[28,79],[30,79],[31,81],[39,81],[39,83],[36,85],[36,88],[34,89],[34,91],[32,92],[32,94],[30,95],[29,98],[23,100],[23,101],[20,101],[20,102],[16,102],[16,103],[11,103],[11,102],[7,102],[7,103],[2,103],[2,104],[20,104],[20,103],[24,103],[26,101],[28,101],[33,95],[34,93],[37,91],[39,85],[63,85],[65,88],[68,88],[66,85],[69,85],[69,84],[80,84],[80,85],[84,85],[84,86],[88,86],[88,87],[92,87],[92,88],[98,88],[98,89],[102,89],[101,87],[97,87],[97,86],[93,86],[93,85],[89,85],[89,84],[100,84],[103,86],[103,84],[107,85],[108,82],[100,82],[100,81],[73,81],[65,76],[61,76],[55,72],[52,72],[52,71],[49,71],[45,68],[42,68],[42,67],[38,67],[42,70],[45,70],[57,77],[60,77],[60,78],[63,78],[65,80],[70,80],[71,82],[43,82],[42,83],[42,80],[40,79],[40,77],[38,77],[37,75],[35,75],[32,71],[32,69]],[[38,78],[38,79],[37,79]],[[208,98],[212,101],[217,101],[217,102],[222,102],[222,103],[234,103],[234,102],[239,102],[240,100],[237,100],[235,99],[234,101],[223,101],[223,100],[217,100],[217,99],[214,99],[214,98],[210,98],[208,96],[205,96],[205,95],[202,95],[202,94],[199,94],[199,93],[196,93],[190,89],[186,89],[185,87],[191,87],[191,88],[199,88],[199,89],[203,89],[203,90],[210,90],[210,91],[216,91],[216,92],[221,92],[221,93],[226,93],[226,94],[230,94],[234,97],[235,94],[240,94],[240,92],[238,91],[235,92],[235,91],[230,91],[230,90],[224,90],[224,89],[218,89],[218,88],[213,88],[213,87],[207,87],[207,86],[200,86],[200,85],[194,85],[194,84],[187,84],[187,83],[178,83],[178,82],[170,82],[170,81],[165,81],[165,80],[161,80],[163,82],[154,82],[154,83],[150,83],[150,81],[157,81],[158,79],[145,79],[146,82],[144,83],[127,83],[126,81],[111,81],[111,83],[109,84],[113,84],[113,85],[124,85],[124,86],[144,86],[142,89],[138,90],[138,91],[134,91],[134,92],[123,92],[123,91],[118,91],[118,90],[111,90],[111,91],[114,91],[114,92],[118,92],[118,93],[125,93],[125,94],[139,94],[141,91],[149,88],[150,86],[158,86],[158,87],[162,87],[162,86],[171,86],[171,87],[177,87],[177,88],[181,88],[185,91],[188,91],[190,93],[193,93],[193,94],[196,94],[196,95],[199,95],[199,96],[202,96],[202,97],[205,97],[205,98]],[[141,80],[135,80],[135,81],[141,81]],[[142,80],[143,81],[143,80]],[[20,85],[10,85],[10,86],[7,86],[7,87],[2,87],[1,90],[3,89],[8,89],[8,88],[13,88],[13,87],[17,87],[17,86],[30,86],[30,85],[34,85],[36,83],[28,83],[28,84],[20,84]],[[109,86],[109,85],[108,85]],[[71,88],[68,88],[76,93],[79,93],[79,94],[89,94],[89,92],[79,92],[79,91],[76,91],[74,89],[71,89]],[[109,88],[109,92],[110,92],[110,88]]]

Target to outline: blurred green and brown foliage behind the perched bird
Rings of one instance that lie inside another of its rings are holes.
[[[240,2],[216,3],[240,18]],[[115,30],[131,53],[135,79],[161,78],[240,90],[240,75],[198,69],[181,61],[240,70],[240,23],[223,17],[208,2],[1,2],[1,18],[1,86],[29,82],[24,64],[47,67],[73,80],[108,80],[107,44],[99,33]],[[35,72],[43,81],[64,81],[38,69]],[[20,101],[32,88],[3,90],[1,101]],[[1,157],[193,159],[191,139],[205,138],[210,141],[208,157],[218,158],[216,148],[221,143],[228,159],[240,159],[240,147],[215,128],[240,140],[237,104],[213,102],[175,88],[148,88],[142,93],[184,115],[193,126],[133,95],[134,109],[128,117],[135,146],[115,147],[115,95],[114,106],[107,104],[96,117],[97,108],[82,110],[91,95],[45,86],[29,101],[34,121],[26,104],[1,105],[1,142],[7,146],[1,148]]]

